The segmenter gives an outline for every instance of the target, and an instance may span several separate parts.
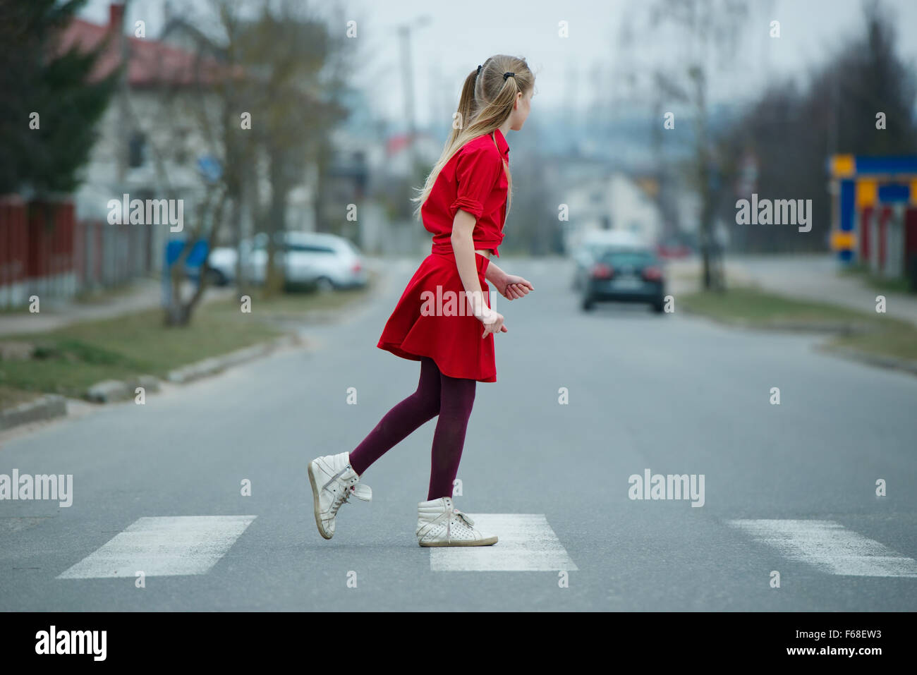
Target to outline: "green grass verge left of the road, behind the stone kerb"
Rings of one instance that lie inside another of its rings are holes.
[[[366,293],[287,293],[270,300],[255,293],[250,314],[236,299],[213,301],[198,305],[184,327],[165,326],[157,308],[10,337],[36,350],[30,360],[0,360],[0,388],[83,397],[103,380],[164,378],[175,368],[281,336],[285,331],[272,325],[278,318],[307,320],[312,311],[344,309]]]

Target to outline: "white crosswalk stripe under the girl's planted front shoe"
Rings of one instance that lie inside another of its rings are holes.
[[[579,570],[544,514],[469,514],[493,546],[430,548],[433,571]]]

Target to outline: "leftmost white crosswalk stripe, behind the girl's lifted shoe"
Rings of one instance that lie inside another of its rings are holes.
[[[204,574],[257,516],[185,515],[138,518],[58,579]]]

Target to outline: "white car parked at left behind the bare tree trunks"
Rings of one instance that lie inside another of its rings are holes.
[[[278,232],[276,261],[284,281],[315,284],[320,291],[366,285],[369,278],[359,249],[347,238],[323,232]],[[268,235],[242,242],[242,267],[252,283],[263,283],[268,261]],[[214,249],[208,260],[215,283],[236,277],[236,249]]]

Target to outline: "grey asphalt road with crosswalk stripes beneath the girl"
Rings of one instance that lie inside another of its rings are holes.
[[[419,365],[375,343],[418,262],[306,326],[309,349],[8,439],[0,474],[72,474],[72,506],[0,501],[0,609],[917,607],[917,378],[682,315],[677,296],[673,315],[584,314],[565,261],[500,259],[536,291],[495,301],[509,332],[456,503],[501,542],[417,546],[436,420],[370,467],[372,501],[344,505],[324,540],[306,463],[414,391]],[[702,476],[702,506],[631,499],[645,470]]]

